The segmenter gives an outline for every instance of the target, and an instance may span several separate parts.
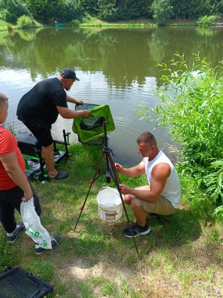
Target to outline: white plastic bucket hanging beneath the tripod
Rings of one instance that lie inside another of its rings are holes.
[[[98,215],[102,220],[114,222],[121,217],[122,202],[116,188],[102,187],[97,195],[97,202]]]

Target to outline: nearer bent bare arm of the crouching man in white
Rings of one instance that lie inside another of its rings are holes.
[[[170,167],[167,163],[159,163],[154,166],[152,170],[152,180],[150,183],[150,190],[138,190],[130,188],[126,185],[120,184],[122,194],[133,195],[143,201],[156,202],[161,195],[167,178],[170,175]]]

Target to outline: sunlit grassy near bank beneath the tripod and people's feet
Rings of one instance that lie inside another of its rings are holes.
[[[179,210],[171,216],[149,219],[150,234],[136,238],[142,256],[139,261],[132,239],[122,235],[126,227],[124,214],[114,223],[98,217],[96,197],[106,185],[105,175],[93,185],[73,231],[101,149],[74,145],[70,152],[69,160],[59,166],[60,170],[69,171],[67,179],[33,183],[41,198],[42,224],[51,234],[62,236],[60,245],[37,256],[25,233],[9,245],[0,226],[1,271],[4,266],[21,266],[51,283],[52,297],[221,296],[223,228],[215,222],[213,207],[196,189],[193,179],[181,178],[183,195]],[[145,177],[120,176],[120,180],[130,186],[146,183]],[[133,222],[131,209],[127,211]]]

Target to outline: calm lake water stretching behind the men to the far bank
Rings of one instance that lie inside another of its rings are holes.
[[[79,82],[69,95],[86,103],[109,104],[116,129],[109,134],[114,160],[135,164],[141,160],[136,138],[153,132],[154,123],[136,115],[138,104],[155,106],[150,90],[162,86],[157,63],[168,63],[175,51],[207,56],[215,66],[223,57],[223,28],[43,28],[0,32],[0,91],[9,97],[8,119],[16,132],[26,131],[17,120],[17,104],[41,79],[55,77],[62,68],[73,68]],[[74,105],[69,103],[74,109]],[[62,140],[62,129],[72,132],[72,120],[58,117],[52,134]],[[154,132],[167,152],[170,138],[165,129]],[[71,140],[77,135],[71,133]],[[168,153],[168,156],[171,155]]]

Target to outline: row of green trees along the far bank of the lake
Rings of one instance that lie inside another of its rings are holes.
[[[68,22],[98,17],[105,21],[153,17],[158,25],[169,18],[196,20],[223,13],[223,0],[0,0],[0,18],[16,22],[28,15],[42,22]]]

